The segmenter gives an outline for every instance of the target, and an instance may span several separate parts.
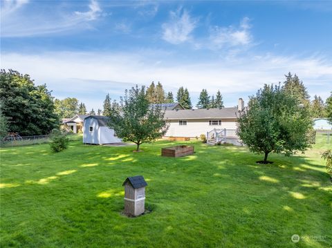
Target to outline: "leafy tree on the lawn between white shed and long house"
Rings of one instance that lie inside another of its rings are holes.
[[[146,97],[145,87],[126,90],[120,105],[114,103],[109,127],[124,141],[135,143],[136,151],[140,144],[163,137],[168,126],[163,120],[165,111],[160,107],[151,108]]]

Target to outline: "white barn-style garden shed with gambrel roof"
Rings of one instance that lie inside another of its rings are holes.
[[[84,119],[83,143],[84,144],[111,144],[122,142],[113,129],[107,126],[107,117],[89,115]]]

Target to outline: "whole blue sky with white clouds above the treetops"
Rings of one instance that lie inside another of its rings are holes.
[[[135,84],[225,106],[297,73],[332,90],[332,1],[1,1],[1,68],[102,108]]]

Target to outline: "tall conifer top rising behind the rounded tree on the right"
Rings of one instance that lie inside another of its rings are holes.
[[[293,95],[296,97],[299,102],[302,104],[310,104],[310,95],[308,94],[308,90],[304,86],[302,81],[299,81],[299,77],[295,74],[294,76],[291,73],[285,75],[286,81],[284,82],[284,86],[282,87],[286,93]]]

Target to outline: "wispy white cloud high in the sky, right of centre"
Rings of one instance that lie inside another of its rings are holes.
[[[247,46],[252,41],[250,34],[250,23],[248,17],[244,17],[239,28],[234,26],[220,27],[214,26],[210,31],[210,41],[214,48],[224,48],[233,46]]]

